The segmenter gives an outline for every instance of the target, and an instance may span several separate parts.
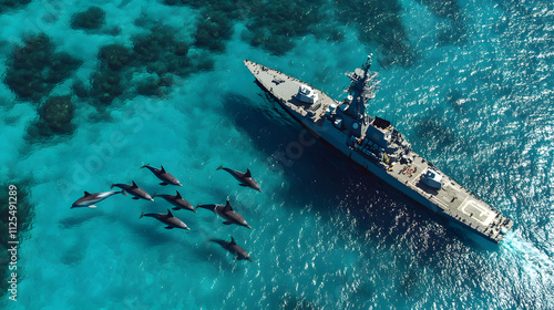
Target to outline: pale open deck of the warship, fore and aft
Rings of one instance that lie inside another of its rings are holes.
[[[316,125],[321,124],[325,121],[326,108],[331,103],[337,103],[315,87],[312,89],[319,96],[317,103],[314,105],[302,103],[295,96],[300,85],[309,86],[309,84],[247,60],[245,64],[257,82],[280,101],[299,121],[308,120]],[[363,163],[355,161],[361,166],[375,165],[367,155],[352,147],[349,147],[349,149],[361,155]],[[345,151],[342,152],[345,153]],[[428,205],[425,203],[430,202],[432,209],[443,218],[461,227],[469,228],[476,235],[494,242],[502,240],[503,232],[512,228],[513,221],[511,219],[471,194],[419,154],[410,152],[407,157],[411,162],[396,162],[390,166],[386,166],[387,174],[400,184],[394,186],[396,188],[425,206]],[[443,184],[441,189],[434,189],[421,180],[421,176],[430,168],[441,174]]]

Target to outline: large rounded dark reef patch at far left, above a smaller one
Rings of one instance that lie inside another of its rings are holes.
[[[4,82],[19,99],[39,103],[81,64],[81,60],[65,52],[55,52],[50,38],[41,33],[14,49],[8,60]]]

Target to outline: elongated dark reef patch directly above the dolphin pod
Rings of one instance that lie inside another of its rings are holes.
[[[102,46],[91,87],[76,81],[73,91],[80,99],[90,99],[94,106],[105,107],[122,96],[163,96],[174,84],[173,74],[186,76],[213,68],[206,55],[199,54],[202,60],[191,59],[188,44],[175,33],[172,27],[156,24],[148,32],[131,38],[132,46]]]

